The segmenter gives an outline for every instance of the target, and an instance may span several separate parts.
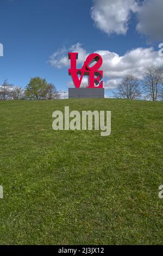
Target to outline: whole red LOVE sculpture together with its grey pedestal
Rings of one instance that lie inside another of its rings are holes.
[[[82,68],[77,68],[77,52],[69,52],[68,59],[71,60],[71,68],[68,74],[71,75],[75,88],[68,89],[69,98],[104,98],[103,71],[99,70],[103,59],[98,53],[91,53],[85,60]],[[80,88],[83,76],[89,76],[87,88]]]

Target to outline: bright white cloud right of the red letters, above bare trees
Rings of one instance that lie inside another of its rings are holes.
[[[110,51],[96,51],[103,57],[105,88],[116,88],[121,79],[128,73],[141,79],[145,69],[152,65],[162,65],[163,59],[153,47],[137,48],[126,52],[123,56]]]

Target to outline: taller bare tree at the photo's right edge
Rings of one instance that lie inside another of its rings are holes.
[[[147,97],[151,97],[153,101],[156,101],[160,96],[162,84],[162,67],[151,66],[149,67],[142,80],[143,89],[147,94]]]

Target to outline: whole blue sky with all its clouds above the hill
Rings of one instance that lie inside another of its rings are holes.
[[[67,53],[79,53],[80,68],[97,52],[112,97],[127,73],[141,79],[147,67],[163,64],[162,12],[162,0],[0,0],[0,84],[24,88],[40,76],[67,92]]]

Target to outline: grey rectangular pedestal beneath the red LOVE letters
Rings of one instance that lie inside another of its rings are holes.
[[[104,98],[104,88],[68,88],[68,98]]]

